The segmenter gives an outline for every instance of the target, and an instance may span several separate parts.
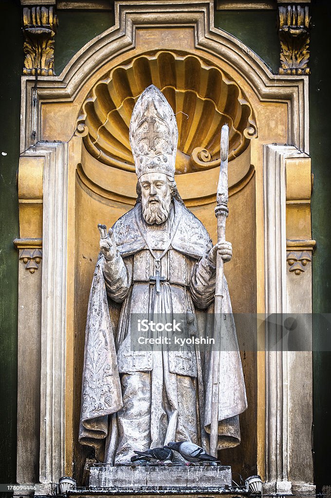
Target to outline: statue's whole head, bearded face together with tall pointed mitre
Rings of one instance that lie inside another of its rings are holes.
[[[129,131],[144,219],[151,225],[163,223],[172,196],[178,196],[174,181],[178,128],[170,105],[154,85],[137,100]]]

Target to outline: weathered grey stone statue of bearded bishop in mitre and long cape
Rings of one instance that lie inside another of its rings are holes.
[[[86,324],[79,441],[111,465],[129,464],[135,450],[170,441],[209,449],[210,351],[131,349],[133,314],[184,314],[201,329],[206,321],[200,317],[213,313],[217,252],[224,262],[232,256],[231,244],[212,245],[181,200],[174,180],[177,139],[173,111],[151,85],[130,123],[137,203],[109,234],[99,228]],[[223,295],[222,327],[233,347],[219,353],[218,449],[240,443],[238,415],[247,408],[225,277]]]

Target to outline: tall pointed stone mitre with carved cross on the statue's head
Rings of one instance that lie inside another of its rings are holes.
[[[136,173],[165,173],[174,177],[178,128],[173,111],[162,92],[150,85],[132,112],[130,144]]]

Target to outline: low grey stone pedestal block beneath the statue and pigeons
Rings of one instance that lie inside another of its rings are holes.
[[[231,467],[204,465],[100,465],[90,470],[90,490],[100,488],[206,490],[229,488]]]

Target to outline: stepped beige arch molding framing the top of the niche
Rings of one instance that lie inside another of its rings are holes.
[[[135,50],[138,28],[179,27],[181,30],[193,29],[194,48],[207,59],[210,55],[216,56],[220,65],[225,64],[233,71],[238,84],[246,82],[261,102],[287,103],[287,143],[309,152],[309,130],[305,122],[305,115],[308,115],[308,79],[273,75],[251,49],[229,33],[214,27],[213,14],[214,4],[209,0],[115,2],[115,25],[77,52],[59,76],[39,77],[35,90],[33,77],[22,78],[21,150],[45,138],[43,106],[47,102],[73,102],[103,67],[111,64],[115,57]],[[175,46],[179,50],[186,48],[185,41],[180,47],[180,38],[176,39]],[[70,136],[63,138],[58,130],[58,136],[53,139],[63,141]]]

